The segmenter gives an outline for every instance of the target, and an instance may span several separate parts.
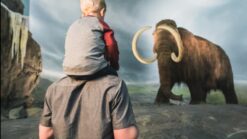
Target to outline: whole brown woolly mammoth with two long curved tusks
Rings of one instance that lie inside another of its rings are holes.
[[[189,87],[191,104],[205,103],[212,89],[223,92],[226,103],[237,104],[233,73],[228,56],[218,45],[178,27],[173,20],[162,20],[153,33],[154,56],[143,58],[137,51],[137,40],[151,27],[136,32],[132,50],[138,61],[150,64],[158,61],[160,88],[156,103],[168,103],[169,99],[182,100],[171,91],[175,83]]]

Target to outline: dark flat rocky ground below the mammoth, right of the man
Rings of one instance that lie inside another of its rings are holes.
[[[134,109],[141,139],[247,139],[246,106],[137,105]]]

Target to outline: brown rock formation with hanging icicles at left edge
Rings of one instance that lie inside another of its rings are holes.
[[[1,1],[1,114],[5,116],[12,108],[32,104],[31,93],[42,70],[40,47],[22,12],[21,0]]]

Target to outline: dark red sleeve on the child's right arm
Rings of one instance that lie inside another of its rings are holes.
[[[103,26],[104,30],[104,41],[106,46],[106,60],[110,62],[110,65],[116,69],[119,70],[119,51],[118,51],[118,45],[117,41],[114,38],[114,32],[113,30],[102,20],[100,20],[101,25]]]

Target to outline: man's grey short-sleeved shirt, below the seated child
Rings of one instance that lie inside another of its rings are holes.
[[[91,81],[64,77],[47,90],[40,124],[58,139],[113,139],[113,130],[134,125],[124,81],[107,75]]]

